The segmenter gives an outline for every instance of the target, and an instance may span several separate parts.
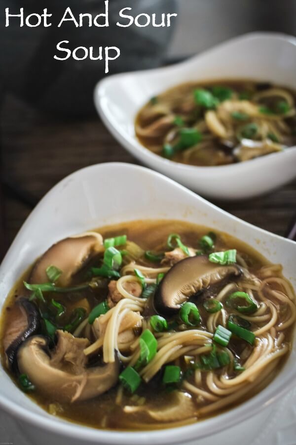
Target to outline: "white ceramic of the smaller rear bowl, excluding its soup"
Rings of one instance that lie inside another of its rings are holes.
[[[117,74],[96,87],[96,108],[111,134],[133,156],[211,198],[250,198],[296,178],[296,147],[251,161],[218,167],[176,163],[145,148],[134,122],[149,98],[188,81],[254,79],[296,89],[296,39],[282,34],[247,34],[168,68]]]

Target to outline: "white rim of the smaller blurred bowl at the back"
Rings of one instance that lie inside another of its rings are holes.
[[[169,73],[174,70],[179,70],[180,68],[186,68],[187,66],[191,66],[196,61],[198,61],[198,59],[200,57],[203,57],[205,55],[211,55],[212,52],[215,52],[217,50],[222,50],[223,48],[227,47],[228,45],[240,44],[245,41],[252,41],[252,40],[256,41],[258,39],[260,40],[260,39],[267,39],[267,38],[275,39],[277,41],[281,41],[286,44],[292,44],[295,46],[295,50],[296,50],[296,37],[295,36],[292,36],[289,34],[284,34],[284,33],[279,33],[279,32],[256,31],[256,32],[246,33],[246,34],[234,37],[232,39],[225,40],[222,43],[219,43],[218,45],[214,45],[211,48],[201,51],[200,53],[195,54],[195,55],[189,57],[188,59],[185,59],[184,61],[175,63],[173,65],[169,65],[166,67],[160,67],[160,68],[153,68],[153,69],[148,69],[148,70],[130,71],[130,72],[125,72],[125,73],[113,74],[111,76],[108,76],[105,79],[100,80],[97,83],[97,85],[95,86],[93,96],[94,96],[94,104],[97,109],[97,112],[99,113],[102,121],[104,122],[104,124],[108,128],[108,130],[111,132],[111,134],[114,135],[116,137],[117,141],[121,145],[123,145],[131,154],[137,156],[137,152],[139,152],[145,158],[145,162],[153,162],[154,164],[158,163],[160,166],[162,166],[162,168],[168,168],[168,169],[178,168],[178,171],[181,174],[182,173],[183,174],[186,174],[186,173],[187,174],[189,174],[189,173],[197,174],[197,173],[201,173],[201,172],[208,172],[208,173],[218,173],[218,172],[222,173],[223,172],[224,174],[228,174],[228,173],[231,174],[234,168],[235,168],[236,172],[238,170],[241,170],[241,172],[243,173],[243,171],[245,169],[247,169],[247,168],[251,169],[253,167],[253,165],[258,166],[258,168],[261,166],[264,166],[264,164],[266,162],[266,157],[268,157],[268,159],[272,160],[272,159],[274,159],[274,157],[276,157],[276,159],[277,159],[279,155],[281,157],[289,156],[289,153],[291,155],[292,153],[296,152],[296,145],[287,147],[282,152],[269,153],[267,155],[260,156],[258,158],[250,159],[246,162],[238,162],[235,164],[226,164],[226,165],[218,165],[218,166],[194,166],[194,165],[182,164],[177,161],[172,161],[170,159],[163,158],[162,156],[151,152],[147,147],[145,147],[143,144],[141,144],[141,142],[138,140],[136,134],[131,135],[131,134],[128,134],[127,132],[118,131],[118,129],[114,125],[115,121],[113,124],[113,122],[109,119],[109,117],[107,117],[107,115],[104,111],[104,107],[102,105],[102,101],[101,101],[101,98],[105,97],[105,95],[104,95],[105,87],[108,86],[109,84],[112,85],[112,83],[114,81],[116,81],[117,79],[126,78],[129,76],[138,78],[138,77],[143,77],[143,76],[155,76],[157,74]],[[254,79],[254,81],[255,81],[255,79]],[[184,82],[186,82],[185,79],[184,79]],[[180,82],[178,84],[180,84]],[[139,108],[139,110],[140,110],[140,108]],[[132,124],[134,127],[134,121]]]

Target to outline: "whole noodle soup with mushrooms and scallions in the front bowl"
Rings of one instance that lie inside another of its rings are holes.
[[[97,233],[55,245],[7,297],[3,363],[40,406],[95,428],[159,429],[218,415],[275,377],[296,316],[281,266],[185,222]]]

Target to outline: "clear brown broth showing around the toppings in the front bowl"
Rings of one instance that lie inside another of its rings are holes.
[[[192,223],[185,223],[182,221],[136,221],[136,222],[128,222],[121,223],[112,226],[102,227],[97,229],[104,238],[109,238],[112,236],[118,236],[121,234],[126,234],[128,240],[134,241],[139,244],[144,250],[152,250],[152,251],[162,251],[165,249],[166,240],[170,233],[179,233],[182,241],[185,245],[193,247],[195,249],[199,249],[199,239],[209,232],[209,228],[199,226]],[[244,258],[246,263],[248,264],[249,271],[254,273],[255,275],[258,273],[260,267],[269,265],[270,263],[263,258],[257,251],[252,249],[250,246],[245,243],[239,241],[238,239],[215,230],[217,234],[217,240],[215,243],[215,250],[223,250],[229,248],[235,248],[240,253],[240,255]],[[143,260],[142,264],[148,264],[151,266],[147,260]],[[2,364],[5,369],[4,364],[4,351],[3,351],[3,336],[5,333],[5,329],[8,323],[13,322],[10,319],[10,308],[14,305],[15,299],[23,295],[23,280],[27,279],[30,274],[31,268],[25,272],[25,274],[20,278],[20,280],[16,283],[14,288],[11,290],[10,294],[6,299],[6,303],[2,310],[1,314],[1,333],[0,333],[0,344],[1,344],[1,357]],[[218,285],[213,292],[218,292],[221,289],[221,285]],[[101,292],[101,293],[100,293]],[[92,295],[91,292],[82,292],[81,297],[86,298],[89,302],[90,307],[94,307],[98,304],[99,301],[102,301],[106,298],[106,292],[100,291],[95,296]],[[65,296],[62,296],[65,298]],[[80,298],[81,298],[80,297]],[[57,298],[59,299],[59,298]],[[73,305],[76,304],[77,298],[74,296],[67,297],[67,301],[63,301],[64,305],[67,307],[73,308]],[[202,319],[205,319],[207,314],[204,311],[202,305],[198,304],[198,308],[201,313]],[[67,317],[64,320],[67,322]],[[287,329],[285,331],[286,342],[290,344],[292,341],[293,328]],[[270,373],[268,378],[264,381],[263,385],[259,385],[258,388],[248,394],[248,396],[242,397],[240,402],[253,397],[255,394],[262,389],[262,387],[266,386],[278,373],[278,371],[283,366],[284,360],[281,360],[280,364],[276,367],[276,369]],[[10,371],[8,371],[10,377],[16,382],[17,380],[15,375],[13,375]],[[203,384],[205,382],[206,373],[203,373]],[[191,378],[192,379],[192,378]],[[160,428],[168,428],[172,426],[183,425],[186,423],[190,423],[196,419],[189,419],[183,422],[172,422],[172,423],[162,423],[152,421],[151,419],[147,419],[146,416],[143,416],[141,413],[136,414],[126,414],[122,410],[122,406],[137,404],[137,403],[145,403],[151,404],[153,406],[161,406],[165,402],[169,400],[170,397],[173,397],[170,393],[168,393],[161,385],[160,385],[159,375],[154,377],[148,385],[141,385],[136,395],[130,395],[127,392],[123,392],[122,401],[120,404],[116,404],[116,397],[118,395],[118,385],[111,389],[109,392],[103,394],[102,396],[88,400],[88,401],[80,401],[71,403],[57,403],[54,399],[54,395],[52,400],[45,398],[42,394],[33,393],[30,394],[29,397],[37,402],[43,409],[48,411],[51,414],[62,417],[68,421],[79,423],[82,425],[87,425],[94,428],[99,429],[108,429],[108,430],[149,430],[149,429],[160,429]],[[225,409],[230,409],[231,407],[237,405],[235,402],[230,404]],[[204,416],[208,417],[208,416]],[[203,417],[203,418],[204,418]],[[200,420],[200,419],[198,419]]]

